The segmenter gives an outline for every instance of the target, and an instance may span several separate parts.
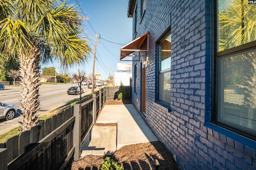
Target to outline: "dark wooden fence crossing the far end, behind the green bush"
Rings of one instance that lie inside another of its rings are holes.
[[[126,98],[132,98],[132,87],[124,86],[126,90]],[[119,86],[106,87],[106,100],[116,100],[119,94]]]

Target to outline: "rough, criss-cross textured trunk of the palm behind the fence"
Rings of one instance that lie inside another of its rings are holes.
[[[40,61],[42,59],[40,49],[34,45],[30,56],[19,56],[20,60],[20,77],[21,77],[21,100],[20,109],[22,111],[23,121],[21,131],[26,131],[36,125],[39,102],[39,78],[40,78]]]

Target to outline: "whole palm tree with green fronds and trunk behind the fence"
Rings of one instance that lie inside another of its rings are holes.
[[[0,0],[0,57],[18,57],[21,131],[37,123],[40,62],[56,57],[62,66],[87,61],[91,49],[79,34],[76,7],[60,0]]]

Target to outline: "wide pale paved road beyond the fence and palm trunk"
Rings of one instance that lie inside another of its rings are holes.
[[[49,113],[50,111],[67,104],[68,102],[79,99],[80,95],[68,95],[67,90],[71,86],[77,86],[77,84],[54,84],[54,85],[41,85],[39,89],[40,99],[40,115]],[[87,86],[82,86],[84,93],[82,96],[92,92],[92,89],[88,89]],[[8,87],[4,90],[0,90],[0,102],[14,103],[17,106],[17,111],[14,119],[6,120],[0,119],[0,134],[3,134],[15,127],[18,127],[22,121],[20,117],[20,87]],[[95,90],[97,90],[96,88]]]

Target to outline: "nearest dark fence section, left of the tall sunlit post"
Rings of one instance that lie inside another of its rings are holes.
[[[3,170],[64,169],[74,155],[74,106],[1,144]]]

